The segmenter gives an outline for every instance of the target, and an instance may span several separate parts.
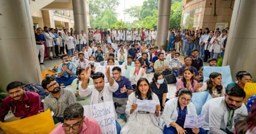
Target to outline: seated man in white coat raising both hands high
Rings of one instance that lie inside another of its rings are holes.
[[[109,83],[104,82],[104,74],[102,72],[96,72],[92,75],[94,85],[88,86],[88,80],[91,75],[92,69],[89,66],[85,67],[85,73],[81,79],[83,79],[81,86],[79,87],[79,95],[81,97],[90,96],[90,104],[98,104],[107,101],[113,101],[113,92],[118,90],[118,83],[110,76],[110,69],[106,67],[106,77]],[[113,104],[114,106],[114,104]],[[115,113],[117,117],[117,114]],[[116,129],[119,134],[121,126],[116,121]]]

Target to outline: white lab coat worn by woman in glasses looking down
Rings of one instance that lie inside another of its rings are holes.
[[[170,127],[172,122],[176,122],[178,118],[178,99],[179,97],[172,98],[165,103],[162,119],[166,123],[166,127]],[[192,102],[187,105],[187,114],[196,115],[196,107]],[[181,126],[182,127],[182,126]]]

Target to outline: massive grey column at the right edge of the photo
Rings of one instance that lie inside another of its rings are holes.
[[[235,73],[245,70],[256,76],[256,1],[235,0],[230,31],[222,66],[230,65],[233,80]]]

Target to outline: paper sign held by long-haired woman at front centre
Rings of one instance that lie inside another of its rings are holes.
[[[156,111],[156,101],[155,100],[136,100],[136,104],[138,104],[137,108],[135,109],[135,112],[137,111],[146,111],[155,113]]]

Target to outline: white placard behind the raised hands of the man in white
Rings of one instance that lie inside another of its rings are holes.
[[[107,67],[109,67],[110,76],[111,77],[113,77],[113,74],[112,74],[113,67],[120,67],[121,70],[122,70],[122,75],[125,76],[125,74],[126,74],[125,65],[107,66]],[[106,77],[106,66],[98,66],[98,67],[96,67],[95,68],[95,72],[102,72],[105,75],[105,77],[104,77],[105,82],[108,82],[108,78]]]

